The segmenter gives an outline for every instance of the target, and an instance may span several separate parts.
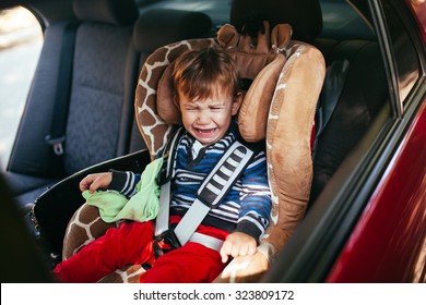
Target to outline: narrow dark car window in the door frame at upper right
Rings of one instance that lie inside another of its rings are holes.
[[[405,98],[421,76],[422,66],[416,48],[409,36],[407,25],[400,19],[391,1],[382,1],[382,7],[397,65],[399,97],[404,107]]]

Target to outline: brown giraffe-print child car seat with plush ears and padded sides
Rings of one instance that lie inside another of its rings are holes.
[[[293,9],[285,10],[287,7],[293,8],[293,2],[272,2],[279,3],[281,9],[279,11],[283,14],[294,12]],[[298,4],[304,9],[298,11],[298,15],[303,15],[300,12],[310,13],[305,16],[306,19],[293,20],[294,35],[299,39],[310,40],[318,34],[320,29],[318,26],[321,25],[319,4],[313,1],[301,2]],[[264,8],[263,2],[259,5],[256,1],[234,1],[233,9],[239,5],[246,9],[247,4]],[[308,10],[307,7],[317,11],[316,19],[312,17],[312,10]],[[273,5],[268,8],[272,11],[277,9]],[[241,15],[234,17],[239,21]],[[169,64],[180,53],[200,46],[223,47],[235,56],[240,77],[252,80],[245,95],[238,124],[246,141],[265,139],[273,199],[272,224],[261,240],[257,255],[248,258],[249,260],[246,260],[247,257],[234,259],[228,265],[227,271],[230,276],[220,277],[217,281],[248,280],[238,278],[238,268],[256,265],[259,259],[263,260],[262,264],[271,264],[303,219],[309,199],[312,179],[310,137],[317,100],[326,73],[324,60],[321,52],[311,45],[291,40],[293,24],[284,25],[277,20],[272,20],[271,32],[269,23],[264,23],[264,32],[258,32],[259,36],[255,39],[249,35],[240,35],[234,26],[226,25],[220,29],[217,39],[182,40],[159,48],[146,60],[137,87],[137,121],[151,159],[154,159],[166,144],[174,126],[179,124],[178,110],[170,96],[168,75]],[[313,22],[316,26],[309,29],[304,26],[305,22]],[[248,66],[247,62],[252,64]],[[102,229],[96,229],[96,225],[100,225]],[[99,219],[96,208],[83,205],[69,223],[64,237],[63,259],[95,239],[95,235],[105,232],[99,231],[111,225],[116,224],[105,223]],[[139,281],[139,273],[143,271],[142,266],[127,266],[100,281]],[[265,269],[261,271],[264,272]],[[260,274],[253,274],[249,280],[258,280]]]

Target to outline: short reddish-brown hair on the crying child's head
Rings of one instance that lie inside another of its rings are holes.
[[[229,90],[233,97],[239,91],[238,73],[234,60],[224,50],[213,47],[189,50],[175,62],[171,73],[175,95],[178,91],[191,99],[203,100],[217,90]]]

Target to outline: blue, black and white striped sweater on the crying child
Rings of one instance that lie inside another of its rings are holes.
[[[217,143],[202,147],[189,133],[181,136],[171,179],[170,215],[184,216],[197,197],[204,178],[239,136],[236,124]],[[135,192],[139,175],[114,172],[110,188],[127,196]],[[210,210],[202,224],[227,232],[242,232],[259,240],[269,224],[271,195],[264,151],[258,152],[222,203]]]

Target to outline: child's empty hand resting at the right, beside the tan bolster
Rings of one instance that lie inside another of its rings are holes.
[[[222,263],[226,263],[229,255],[233,257],[255,255],[258,251],[257,242],[246,233],[230,233],[221,248]]]

